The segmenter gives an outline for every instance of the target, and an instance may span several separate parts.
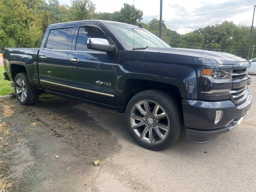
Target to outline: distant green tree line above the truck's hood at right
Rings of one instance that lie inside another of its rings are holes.
[[[191,36],[192,33],[194,36]],[[252,44],[256,43],[256,35],[253,34]],[[188,38],[188,36],[191,37]],[[233,22],[224,21],[221,24],[206,26],[182,35],[182,43],[178,47],[186,46],[188,48],[227,52],[247,58],[249,38],[250,27],[236,26]]]

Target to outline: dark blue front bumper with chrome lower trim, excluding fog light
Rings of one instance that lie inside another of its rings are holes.
[[[248,114],[251,104],[250,92],[247,99],[236,106],[230,100],[220,102],[182,100],[186,142],[210,142],[219,134],[236,128]],[[216,110],[223,110],[222,120],[218,124],[214,124]]]

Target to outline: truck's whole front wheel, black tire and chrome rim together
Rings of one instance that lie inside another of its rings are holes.
[[[126,127],[140,146],[163,150],[175,144],[184,127],[176,100],[160,90],[136,94],[126,107]]]

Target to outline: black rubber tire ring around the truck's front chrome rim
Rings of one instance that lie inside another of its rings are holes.
[[[164,95],[164,97],[161,97],[159,94],[156,94],[156,93],[160,93]],[[131,127],[130,113],[131,113],[132,107],[141,100],[152,100],[154,102],[157,102],[158,104],[160,104],[160,106],[164,108],[164,110],[166,110],[166,113],[168,114],[170,130],[165,140],[159,144],[147,144],[146,142],[141,141]],[[170,102],[172,103],[172,108],[171,106],[169,106]],[[178,109],[177,102],[170,95],[159,90],[148,90],[148,91],[144,91],[144,92],[140,92],[139,94],[136,94],[130,100],[130,102],[126,107],[125,118],[126,118],[126,127],[128,129],[128,132],[132,136],[132,138],[135,140],[135,142],[137,142],[140,146],[150,150],[163,150],[165,148],[168,148],[168,146],[176,143],[182,131],[182,117],[180,114],[180,110]]]

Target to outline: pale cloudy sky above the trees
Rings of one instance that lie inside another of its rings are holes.
[[[67,4],[68,0],[59,0]],[[143,11],[142,22],[160,18],[160,0],[91,0],[96,12],[119,11],[124,3],[134,4]],[[162,18],[168,28],[180,34],[200,27],[233,21],[237,25],[252,25],[256,0],[163,0]],[[256,17],[256,16],[255,16]],[[256,25],[254,19],[254,26]]]

